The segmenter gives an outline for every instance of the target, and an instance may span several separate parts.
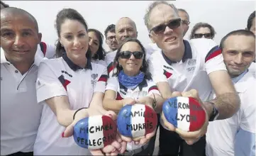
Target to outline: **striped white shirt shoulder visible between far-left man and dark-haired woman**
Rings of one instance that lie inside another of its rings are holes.
[[[40,42],[40,44],[38,44],[38,51],[36,55],[39,55],[40,57],[46,57],[48,59],[55,58],[55,46]]]

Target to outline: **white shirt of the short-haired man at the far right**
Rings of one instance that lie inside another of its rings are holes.
[[[250,72],[247,72],[235,83],[235,90],[238,92],[241,101],[239,111],[231,118],[209,123],[206,133],[207,156],[233,156],[235,134],[239,128],[255,133],[255,82],[255,77]]]

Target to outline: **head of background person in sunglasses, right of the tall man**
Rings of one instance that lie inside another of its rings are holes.
[[[196,23],[191,30],[190,39],[208,38],[213,39],[216,35],[214,28],[208,23]]]

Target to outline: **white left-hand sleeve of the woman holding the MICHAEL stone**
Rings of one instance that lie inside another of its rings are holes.
[[[55,96],[67,96],[65,87],[48,65],[48,60],[41,62],[38,67],[36,95],[38,103]]]

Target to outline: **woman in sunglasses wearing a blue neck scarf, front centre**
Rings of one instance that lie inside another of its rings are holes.
[[[118,111],[126,104],[147,104],[159,112],[163,99],[148,72],[145,49],[137,39],[126,40],[117,50],[114,58],[116,68],[113,77],[108,78],[104,96],[104,108]],[[126,138],[126,155],[152,155],[155,147],[155,130],[146,137]],[[129,143],[130,142],[130,143]],[[125,147],[125,146],[124,146]]]

